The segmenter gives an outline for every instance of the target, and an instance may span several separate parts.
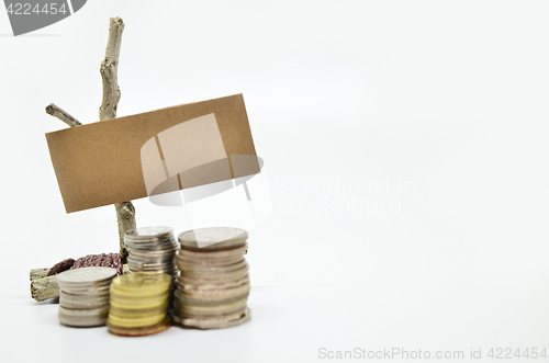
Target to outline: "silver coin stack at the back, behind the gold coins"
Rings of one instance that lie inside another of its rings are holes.
[[[167,273],[176,276],[173,254],[179,243],[171,227],[143,227],[126,231],[127,268],[132,272]]]

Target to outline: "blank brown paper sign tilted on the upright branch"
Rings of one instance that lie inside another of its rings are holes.
[[[46,134],[67,213],[259,172],[242,94]]]

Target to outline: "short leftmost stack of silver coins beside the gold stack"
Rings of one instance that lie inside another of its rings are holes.
[[[112,268],[67,270],[56,276],[59,285],[59,322],[69,327],[104,326],[109,315]]]

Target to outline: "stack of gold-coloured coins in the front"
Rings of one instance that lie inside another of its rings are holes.
[[[149,336],[171,326],[168,317],[171,276],[136,272],[117,276],[111,284],[107,326],[117,336]]]

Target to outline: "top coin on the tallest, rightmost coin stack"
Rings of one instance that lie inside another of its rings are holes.
[[[178,236],[182,249],[222,250],[244,245],[248,232],[240,228],[217,227],[184,231]]]

